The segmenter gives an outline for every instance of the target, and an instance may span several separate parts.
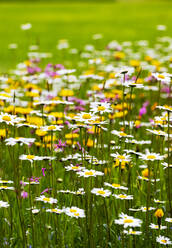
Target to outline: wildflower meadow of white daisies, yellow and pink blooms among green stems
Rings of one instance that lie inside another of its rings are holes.
[[[0,247],[172,245],[172,37],[161,21],[151,42],[95,32],[82,47],[61,37],[55,52],[20,23],[27,52],[9,40],[0,61]]]

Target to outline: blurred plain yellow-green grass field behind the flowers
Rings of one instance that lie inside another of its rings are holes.
[[[41,51],[56,54],[59,39],[69,39],[72,47],[82,48],[92,42],[92,35],[102,33],[102,45],[110,40],[154,41],[156,25],[168,27],[172,35],[172,2],[1,2],[0,3],[0,71],[13,68],[26,58],[28,46],[39,42]],[[29,34],[20,30],[22,23],[33,25]],[[8,44],[17,43],[15,54]]]

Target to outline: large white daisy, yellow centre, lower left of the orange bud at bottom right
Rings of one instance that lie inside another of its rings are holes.
[[[124,228],[127,227],[140,227],[142,224],[142,220],[136,219],[133,216],[129,216],[127,214],[121,213],[119,215],[120,219],[115,220],[115,224],[123,225]]]

